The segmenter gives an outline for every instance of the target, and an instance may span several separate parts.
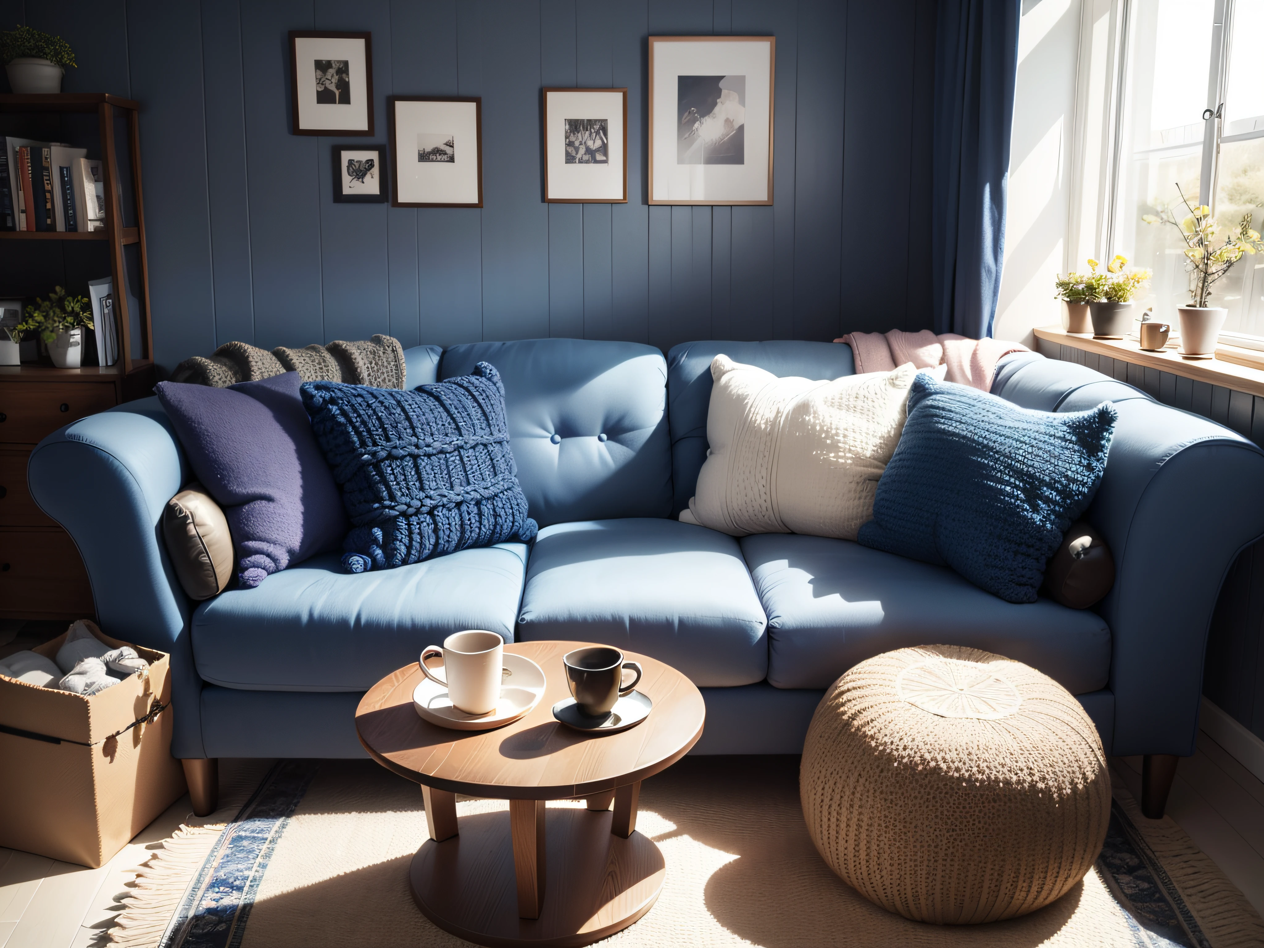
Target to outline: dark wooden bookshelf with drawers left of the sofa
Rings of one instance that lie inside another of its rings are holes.
[[[137,226],[124,228],[115,118],[126,121]],[[77,618],[95,605],[87,570],[71,537],[44,516],[30,495],[27,463],[44,436],[78,418],[152,393],[157,380],[149,312],[149,262],[145,249],[144,193],[140,182],[140,104],[109,94],[0,95],[4,112],[95,114],[100,129],[105,229],[0,231],[0,240],[88,240],[110,249],[119,362],[58,369],[51,364],[0,365],[0,618]],[[124,246],[139,245],[139,281],[128,281]],[[11,248],[11,245],[10,245]],[[0,252],[13,253],[14,249]],[[48,253],[56,253],[52,245]],[[52,287],[48,287],[52,289]],[[139,339],[131,329],[126,289],[139,303]],[[5,287],[0,286],[0,297]],[[86,341],[86,340],[85,340]],[[139,354],[133,355],[133,345]]]

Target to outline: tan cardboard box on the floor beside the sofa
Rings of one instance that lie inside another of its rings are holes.
[[[120,642],[85,623],[111,648]],[[66,633],[34,651],[54,659]],[[85,698],[0,675],[0,846],[96,868],[185,793],[171,664]]]

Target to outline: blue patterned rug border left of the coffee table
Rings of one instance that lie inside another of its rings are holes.
[[[313,761],[281,761],[268,771],[215,841],[162,948],[239,948],[277,842],[319,767]]]

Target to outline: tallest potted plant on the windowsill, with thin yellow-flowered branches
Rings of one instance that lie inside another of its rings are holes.
[[[1181,354],[1191,359],[1213,359],[1220,330],[1225,325],[1229,310],[1224,306],[1207,306],[1211,287],[1224,277],[1243,254],[1254,255],[1264,250],[1260,235],[1251,230],[1251,215],[1243,217],[1236,228],[1230,229],[1220,244],[1216,244],[1216,220],[1211,209],[1201,204],[1192,207],[1181,186],[1177,193],[1188,216],[1177,221],[1170,207],[1159,207],[1159,212],[1145,214],[1146,224],[1170,224],[1181,234],[1186,249],[1186,272],[1189,274],[1189,297],[1192,306],[1178,306],[1181,322]]]

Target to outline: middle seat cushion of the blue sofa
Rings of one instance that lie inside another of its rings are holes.
[[[527,566],[518,641],[600,642],[702,688],[767,674],[766,621],[737,541],[659,518],[556,523]]]

